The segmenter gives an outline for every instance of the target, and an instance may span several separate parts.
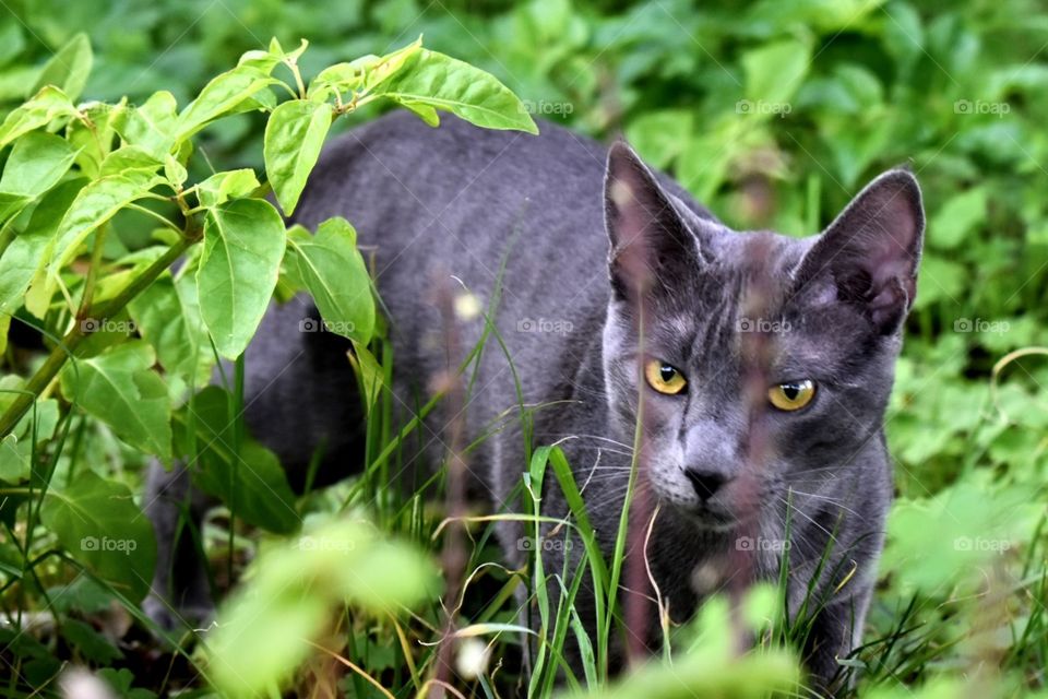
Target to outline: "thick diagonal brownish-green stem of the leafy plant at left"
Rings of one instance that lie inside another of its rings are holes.
[[[81,321],[85,318],[108,318],[123,310],[123,307],[127,306],[131,299],[141,294],[145,287],[152,284],[164,270],[169,268],[171,263],[181,257],[195,241],[195,236],[186,236],[168,248],[167,252],[157,258],[142,274],[134,277],[119,294],[91,308],[82,317],[74,319],[73,327],[66,333],[66,336],[59,341],[58,346],[51,350],[51,354],[48,355],[44,365],[36,370],[36,374],[34,374],[25,384],[26,392],[20,393],[3,415],[0,415],[0,439],[11,434],[14,426],[22,419],[22,416],[32,407],[33,402],[39,396],[44,389],[47,388],[51,380],[58,376],[58,372],[66,365],[66,360],[72,356],[76,345],[87,336],[84,333],[84,323]]]

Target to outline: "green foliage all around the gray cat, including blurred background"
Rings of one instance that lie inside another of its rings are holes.
[[[133,519],[124,510],[139,507],[131,494],[143,454],[202,454],[214,474],[211,490],[228,506],[202,532],[203,543],[213,558],[238,568],[257,548],[281,546],[272,533],[243,536],[242,523],[286,533],[297,522],[279,514],[288,508],[330,513],[349,503],[366,509],[383,532],[437,546],[441,513],[425,508],[421,495],[383,485],[400,426],[385,423],[382,391],[369,393],[366,474],[297,501],[284,486],[239,497],[225,488],[235,455],[274,483],[282,476],[275,458],[249,436],[236,437],[229,449],[207,438],[222,435],[236,414],[235,386],[194,391],[216,355],[240,354],[264,304],[285,283],[310,293],[325,319],[344,321],[332,325],[346,329],[357,346],[371,343],[371,353],[357,354],[372,384],[392,370],[349,223],[327,222],[314,234],[285,230],[255,171],[264,167],[281,211],[294,210],[329,131],[359,121],[357,108],[371,98],[396,102],[426,120],[443,108],[483,126],[528,127],[509,91],[474,93],[471,81],[445,78],[466,75],[455,72],[467,70],[464,64],[429,50],[489,71],[535,116],[597,137],[623,132],[651,163],[742,229],[813,233],[878,171],[910,165],[925,190],[929,225],[885,418],[898,501],[867,645],[844,662],[864,668],[864,696],[1046,690],[1048,203],[1039,192],[1048,175],[1048,13],[1037,3],[92,5],[23,0],[11,3],[14,21],[0,19],[0,104],[8,114],[0,127],[7,362],[0,408],[8,416],[0,418],[0,520],[10,535],[0,543],[0,577],[9,617],[53,609],[58,620],[50,647],[0,630],[7,633],[0,657],[22,678],[12,680],[13,692],[46,684],[59,657],[134,668],[134,686],[169,688],[164,679],[148,684],[128,649],[116,648],[95,623],[112,599],[136,616],[148,536],[118,522]],[[262,49],[258,37],[274,32],[283,45],[298,46],[305,36],[311,46]],[[419,34],[427,49],[412,44],[370,55]],[[367,57],[338,62],[360,55]],[[236,68],[213,79],[229,66]],[[211,164],[229,169],[214,173]],[[250,247],[246,216],[265,224],[252,228],[250,235],[261,237]],[[179,256],[186,265],[166,272]],[[336,276],[335,270],[352,273]],[[41,363],[19,350],[25,324],[48,333],[50,358]],[[19,378],[33,374],[43,378]],[[34,402],[31,394],[43,398]],[[533,474],[549,458],[547,477],[556,476],[556,452],[536,450],[536,457]],[[85,478],[87,471],[93,476]],[[104,518],[71,514],[98,498],[114,503]],[[481,657],[499,657],[519,642],[512,601],[525,582],[498,565],[488,522],[472,523],[471,532],[476,546],[460,635],[484,639]],[[134,565],[122,565],[127,554],[116,549],[84,550],[79,540],[85,536],[123,541],[124,549],[135,542]],[[301,552],[282,550],[289,567],[313,565],[294,558]],[[602,562],[587,565],[599,569]],[[533,688],[546,696],[557,653],[579,620],[569,606],[544,602],[543,590],[547,582],[570,588],[577,577],[544,577],[537,564],[526,582],[548,642]],[[88,578],[76,578],[80,570]],[[398,696],[422,692],[436,656],[415,640],[439,641],[442,624],[438,593],[422,594],[428,608],[409,617],[376,614],[355,601],[337,628],[314,624],[300,635],[323,636],[325,648],[354,663],[340,687],[348,695],[379,696],[365,676]],[[606,614],[610,633],[615,620]],[[760,638],[790,635],[775,617],[774,611],[761,616],[766,632]],[[675,633],[681,676],[700,668],[695,682],[710,663],[727,662],[717,639],[727,638],[729,623],[702,624]],[[699,639],[693,645],[688,633]],[[186,663],[191,645],[179,645]],[[597,691],[611,691],[600,678],[600,652],[598,639],[592,676],[569,682],[569,690],[592,682]],[[716,690],[734,696],[793,682],[793,665],[776,653],[767,648],[738,661]],[[207,673],[202,661],[200,670]],[[289,671],[279,670],[287,680]],[[475,696],[493,696],[514,673],[493,663],[480,670],[468,687]],[[291,682],[315,685],[329,674],[310,661]],[[671,678],[647,668],[619,690],[631,696],[642,686],[650,696],[675,696]],[[131,690],[130,679],[120,682]],[[179,677],[170,682],[178,686]]]

